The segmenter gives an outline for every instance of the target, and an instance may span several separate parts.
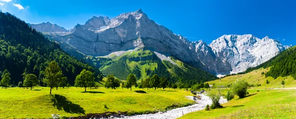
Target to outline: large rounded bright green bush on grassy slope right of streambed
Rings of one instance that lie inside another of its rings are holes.
[[[247,95],[248,85],[245,81],[238,81],[231,85],[231,90],[240,98],[244,98]]]

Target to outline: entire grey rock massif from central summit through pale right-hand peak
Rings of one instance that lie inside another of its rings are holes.
[[[42,29],[42,26],[32,27]],[[201,40],[191,42],[156,24],[141,9],[113,19],[94,16],[69,32],[49,34],[69,52],[98,57],[119,51],[147,49],[173,56],[213,74],[244,71],[288,48],[277,40],[259,39],[252,35],[224,35],[210,45]]]

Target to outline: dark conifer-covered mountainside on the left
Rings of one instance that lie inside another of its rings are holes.
[[[11,84],[17,85],[23,80],[22,74],[29,73],[41,80],[45,67],[53,60],[58,62],[72,85],[82,69],[95,72],[96,75],[100,73],[98,69],[66,54],[59,44],[48,40],[24,21],[0,12],[0,73],[7,69],[11,75]]]

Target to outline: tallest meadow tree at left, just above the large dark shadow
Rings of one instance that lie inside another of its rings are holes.
[[[59,85],[61,78],[63,78],[63,73],[57,62],[49,62],[48,66],[45,68],[43,83],[45,83],[47,87],[50,87],[50,94],[51,89]]]

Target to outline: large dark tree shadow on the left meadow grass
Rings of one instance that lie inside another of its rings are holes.
[[[85,110],[82,107],[80,107],[80,105],[72,103],[65,96],[55,94],[51,95],[50,97],[53,106],[56,107],[58,110],[64,110],[65,112],[71,114],[85,115]]]

